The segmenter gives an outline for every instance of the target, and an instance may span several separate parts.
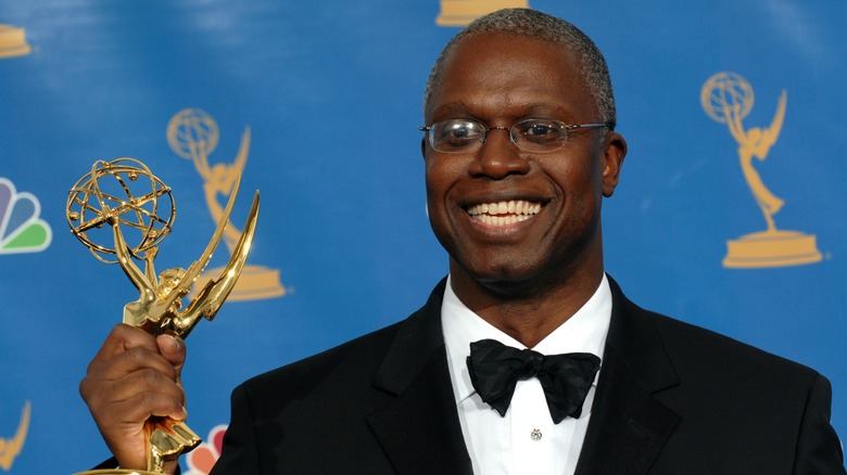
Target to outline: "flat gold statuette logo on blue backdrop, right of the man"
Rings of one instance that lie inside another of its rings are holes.
[[[753,166],[753,158],[763,162],[780,137],[787,93],[782,91],[776,113],[770,127],[744,129],[742,119],[753,110],[754,93],[750,84],[735,73],[718,73],[710,77],[700,91],[703,110],[719,124],[726,124],[738,142],[738,159],[747,185],[759,205],[767,229],[726,241],[724,267],[761,268],[798,266],[819,262],[822,258],[813,234],[776,229],[773,216],[785,202],[774,195]]]

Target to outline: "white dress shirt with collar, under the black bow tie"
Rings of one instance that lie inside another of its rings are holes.
[[[611,291],[604,274],[589,301],[532,349],[542,355],[590,352],[602,359],[610,319]],[[572,474],[589,426],[597,377],[579,419],[566,418],[554,424],[544,390],[535,377],[518,382],[511,405],[506,415],[501,416],[482,402],[470,383],[469,345],[492,338],[515,348],[524,346],[470,311],[453,292],[450,280],[441,304],[441,320],[453,394],[473,473]]]

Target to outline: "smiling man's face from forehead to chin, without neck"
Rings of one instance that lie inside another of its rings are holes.
[[[425,115],[427,125],[472,119],[486,128],[530,117],[599,121],[573,54],[501,35],[466,38],[453,51]],[[546,154],[521,151],[505,130],[472,153],[423,143],[430,222],[451,256],[454,288],[508,292],[602,272],[601,201],[615,190],[625,146],[605,128],[571,131]]]

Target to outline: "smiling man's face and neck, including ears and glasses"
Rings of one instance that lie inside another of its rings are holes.
[[[473,31],[447,47],[428,88],[430,222],[462,301],[533,347],[603,279],[601,202],[627,143],[576,51]]]

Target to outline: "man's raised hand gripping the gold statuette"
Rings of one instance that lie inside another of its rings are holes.
[[[184,421],[188,415],[180,381],[185,360],[182,339],[153,337],[121,323],[89,363],[79,394],[122,468],[147,468],[148,418]],[[175,468],[176,462],[165,467],[167,473]]]

